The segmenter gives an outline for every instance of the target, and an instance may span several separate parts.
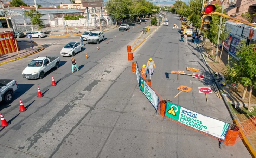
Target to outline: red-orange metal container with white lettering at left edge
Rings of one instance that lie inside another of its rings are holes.
[[[16,52],[13,32],[0,33],[0,55]]]

